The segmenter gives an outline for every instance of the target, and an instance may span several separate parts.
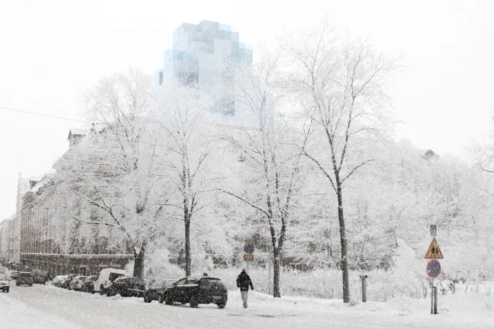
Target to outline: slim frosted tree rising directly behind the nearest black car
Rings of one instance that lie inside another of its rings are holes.
[[[191,275],[191,225],[196,214],[209,204],[206,194],[215,179],[207,170],[211,127],[205,124],[204,116],[209,103],[194,86],[169,83],[160,90],[152,114],[167,152],[161,167],[168,173],[171,194],[163,205],[171,207],[175,218],[183,221],[186,275]]]

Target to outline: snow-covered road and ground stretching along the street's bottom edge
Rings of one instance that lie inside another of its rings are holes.
[[[0,324],[1,328],[494,328],[489,309],[493,298],[483,295],[447,296],[443,303],[450,310],[440,307],[437,316],[428,314],[426,300],[349,306],[337,300],[249,295],[247,310],[241,307],[239,292],[229,292],[226,309],[215,305],[191,309],[51,285],[14,285],[10,293],[0,294]],[[486,310],[481,309],[484,304]],[[466,305],[474,306],[470,313]]]

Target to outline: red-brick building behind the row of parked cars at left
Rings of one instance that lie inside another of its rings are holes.
[[[77,146],[84,134],[78,130],[69,132],[68,152]],[[19,220],[15,223],[18,227],[11,229],[11,232],[18,230],[18,261],[24,268],[40,268],[51,275],[90,275],[99,273],[102,268],[123,268],[133,260],[133,254],[128,252],[124,242],[112,247],[109,236],[102,236],[70,216],[71,212],[66,211],[68,208],[85,216],[90,213],[82,210],[83,203],[66,198],[64,191],[59,190],[54,174],[30,179],[29,184],[28,191],[18,202]]]

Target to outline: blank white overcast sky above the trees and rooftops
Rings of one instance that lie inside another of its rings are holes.
[[[0,0],[0,107],[80,119],[85,88],[129,64],[155,71],[181,23],[229,24],[255,52],[327,13],[337,28],[404,55],[390,91],[404,121],[397,137],[464,155],[492,128],[493,12],[489,0]],[[78,126],[0,109],[0,221],[15,212],[18,173],[49,171]]]

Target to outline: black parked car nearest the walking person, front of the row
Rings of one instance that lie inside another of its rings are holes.
[[[167,305],[179,302],[198,307],[199,304],[217,304],[219,309],[227,306],[228,292],[217,277],[183,277],[163,292]]]

